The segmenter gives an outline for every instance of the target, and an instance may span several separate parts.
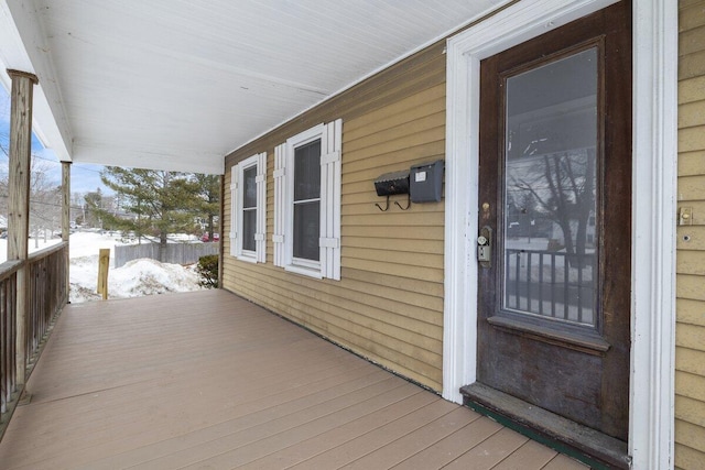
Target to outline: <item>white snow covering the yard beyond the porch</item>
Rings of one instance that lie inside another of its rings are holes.
[[[57,243],[58,239],[44,242],[30,240],[30,252]],[[76,232],[69,239],[69,300],[74,304],[98,300],[98,252],[101,248],[110,249],[110,269],[108,271],[108,298],[142,297],[144,295],[167,292],[200,291],[198,274],[194,266],[160,263],[155,260],[134,260],[122,267],[113,267],[113,252],[117,244],[127,244],[119,234],[100,234],[97,232]],[[7,240],[0,239],[0,262],[7,258]]]

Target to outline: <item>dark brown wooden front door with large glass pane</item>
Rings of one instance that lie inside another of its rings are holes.
[[[480,84],[478,382],[621,440],[630,37],[622,2],[482,61]]]

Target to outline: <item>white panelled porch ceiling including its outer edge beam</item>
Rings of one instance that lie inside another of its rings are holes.
[[[0,0],[61,160],[199,173],[507,0]]]

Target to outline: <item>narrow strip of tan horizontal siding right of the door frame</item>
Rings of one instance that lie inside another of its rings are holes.
[[[679,3],[675,466],[705,462],[705,0]]]

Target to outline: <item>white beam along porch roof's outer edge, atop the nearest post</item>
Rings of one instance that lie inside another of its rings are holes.
[[[58,160],[70,161],[73,133],[45,34],[31,0],[0,2],[0,62],[3,68],[36,75],[40,84],[34,88],[32,130],[45,147],[56,153]],[[11,80],[4,69],[0,76],[9,90]]]

